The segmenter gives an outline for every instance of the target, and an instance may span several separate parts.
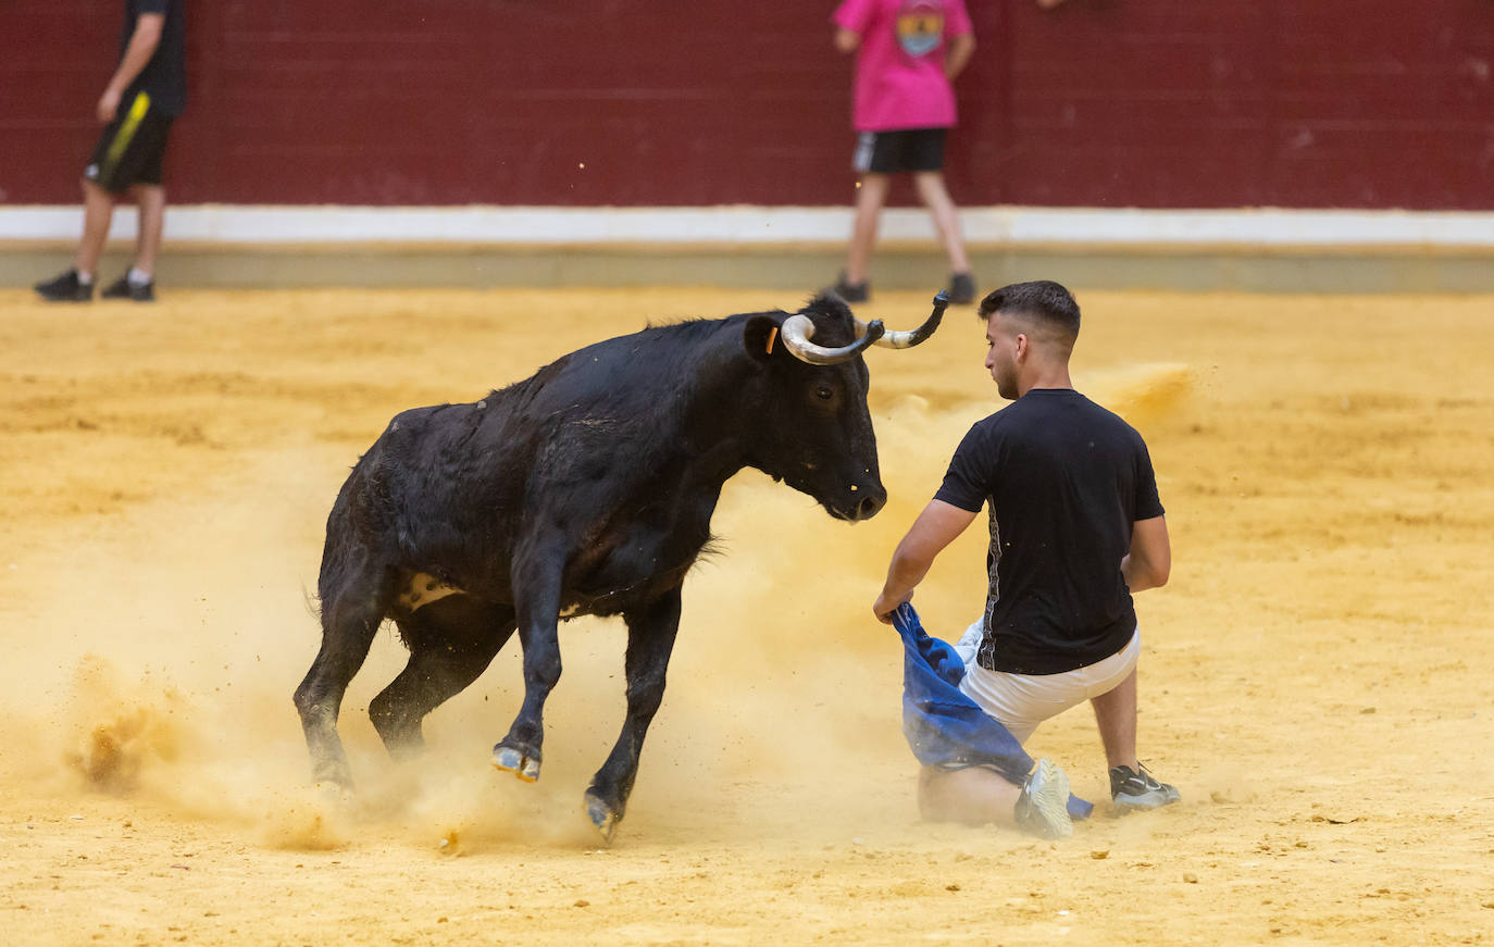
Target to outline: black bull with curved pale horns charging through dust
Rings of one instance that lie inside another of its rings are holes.
[[[611,838],[663,696],[680,586],[711,539],[722,485],[756,468],[835,518],[874,515],[886,490],[861,353],[917,345],[946,303],[941,293],[920,329],[899,333],[861,323],[834,296],[795,315],[651,327],[480,402],[397,415],[327,517],[321,650],[296,689],[314,778],[351,786],[338,712],[385,618],[409,665],[369,715],[396,757],[420,748],[426,714],[518,630],[524,702],[493,763],[532,781],[560,678],[559,618],[622,615],[627,715],[586,793]]]

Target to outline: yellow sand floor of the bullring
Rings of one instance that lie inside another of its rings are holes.
[[[744,474],[686,587],[616,842],[580,805],[622,723],[620,623],[563,626],[544,778],[489,748],[517,645],[394,766],[305,786],[290,695],[321,529],[396,411],[472,400],[647,320],[784,293],[0,293],[0,941],[31,944],[1476,944],[1494,941],[1494,299],[1082,293],[1080,388],[1147,436],[1174,542],[1140,597],[1170,811],[1047,844],[922,825],[870,603],[996,405],[968,309],[874,350],[889,508]],[[928,294],[864,315],[908,327]],[[956,635],[982,529],[919,593]],[[1106,792],[1089,711],[1031,742]]]

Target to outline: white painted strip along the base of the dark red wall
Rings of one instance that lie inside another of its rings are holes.
[[[166,236],[206,243],[844,243],[849,208],[354,208],[188,205],[166,211]],[[973,245],[1400,246],[1494,249],[1494,214],[1406,211],[1143,211],[967,208]],[[0,240],[78,239],[76,206],[0,208]],[[134,237],[134,209],[114,239]],[[928,215],[893,208],[883,240],[929,240]]]

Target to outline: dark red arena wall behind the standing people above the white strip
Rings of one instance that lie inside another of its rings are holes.
[[[967,1],[962,205],[1494,209],[1494,0]],[[187,4],[179,203],[850,197],[834,0]],[[76,200],[121,6],[4,4],[0,200]]]

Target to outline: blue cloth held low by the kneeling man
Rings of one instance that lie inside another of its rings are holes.
[[[1022,786],[1034,760],[1007,727],[959,690],[965,662],[955,648],[929,638],[907,602],[892,612],[892,627],[902,638],[902,735],[913,756],[943,769],[989,766]],[[1073,819],[1088,819],[1094,808],[1079,796],[1068,798]]]

